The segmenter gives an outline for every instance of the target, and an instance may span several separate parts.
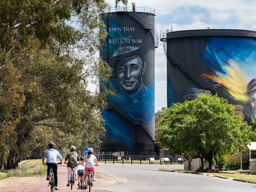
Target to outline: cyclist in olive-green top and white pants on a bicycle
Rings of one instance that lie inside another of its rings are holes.
[[[69,154],[67,154],[64,163],[67,162],[67,169],[68,169],[68,183],[67,183],[67,187],[70,185],[70,176],[71,176],[71,167],[75,167],[74,171],[75,171],[75,180],[77,180],[77,167],[78,167],[78,162],[80,161],[80,157],[79,155],[76,153],[76,147],[74,145],[72,145],[70,147],[70,152]]]

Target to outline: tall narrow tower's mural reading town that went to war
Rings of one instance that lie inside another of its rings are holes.
[[[107,90],[101,90],[108,94],[108,108],[102,112],[107,130],[103,151],[154,149],[154,138],[146,132],[155,129],[154,39],[134,20],[137,14],[154,23],[148,13],[102,17],[108,37],[100,56],[113,68]]]

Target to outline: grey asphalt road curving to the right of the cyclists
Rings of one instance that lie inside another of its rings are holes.
[[[159,167],[183,169],[181,165],[102,164],[97,171],[109,174],[116,184],[93,189],[114,192],[251,192],[256,184],[198,174],[159,171]]]

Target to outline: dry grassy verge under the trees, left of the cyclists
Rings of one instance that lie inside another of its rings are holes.
[[[11,170],[1,170],[0,180],[8,177],[33,177],[46,174],[47,166],[42,164],[42,159],[24,160],[19,167]]]

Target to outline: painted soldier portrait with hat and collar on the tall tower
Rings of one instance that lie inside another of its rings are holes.
[[[135,104],[147,94],[148,88],[143,83],[146,63],[138,54],[136,46],[117,49],[111,57],[110,66],[120,86],[120,97],[127,103]]]

